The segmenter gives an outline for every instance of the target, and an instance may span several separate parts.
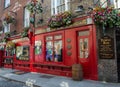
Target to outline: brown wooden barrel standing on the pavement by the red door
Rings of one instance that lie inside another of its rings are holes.
[[[81,81],[83,79],[83,71],[80,64],[72,65],[72,79],[76,81]]]

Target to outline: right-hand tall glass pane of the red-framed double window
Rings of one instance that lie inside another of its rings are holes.
[[[54,61],[62,62],[62,40],[54,41]]]

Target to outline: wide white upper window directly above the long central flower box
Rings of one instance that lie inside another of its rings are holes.
[[[52,0],[51,2],[52,15],[70,10],[70,0]]]

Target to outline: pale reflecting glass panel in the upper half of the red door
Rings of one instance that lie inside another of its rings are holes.
[[[80,49],[80,52],[79,52],[79,55],[80,55],[80,58],[88,58],[88,55],[89,55],[89,48],[88,48],[88,38],[85,38],[85,39],[80,39],[79,40],[79,49]]]

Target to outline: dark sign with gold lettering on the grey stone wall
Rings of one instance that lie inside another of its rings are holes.
[[[114,58],[114,39],[104,36],[99,39],[99,57],[102,59]]]

